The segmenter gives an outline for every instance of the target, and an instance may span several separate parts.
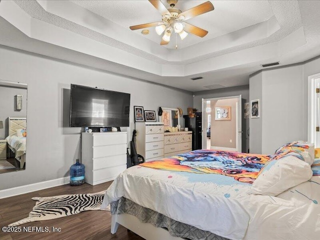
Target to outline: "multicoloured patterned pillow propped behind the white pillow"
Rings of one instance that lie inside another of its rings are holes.
[[[272,158],[279,159],[284,155],[294,155],[312,165],[314,161],[314,144],[305,141],[292,141],[276,149]]]

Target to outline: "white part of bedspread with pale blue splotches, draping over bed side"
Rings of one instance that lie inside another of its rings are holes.
[[[101,207],[124,196],[232,240],[320,239],[320,176],[278,196],[250,195],[250,187],[214,173],[133,166],[116,177]]]

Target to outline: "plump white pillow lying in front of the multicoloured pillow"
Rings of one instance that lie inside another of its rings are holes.
[[[271,159],[261,168],[249,193],[276,196],[311,177],[310,165],[295,156]]]

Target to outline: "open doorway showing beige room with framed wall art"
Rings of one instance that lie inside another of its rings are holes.
[[[202,98],[202,148],[241,152],[241,95]]]

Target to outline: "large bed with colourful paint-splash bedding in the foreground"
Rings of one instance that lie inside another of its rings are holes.
[[[270,156],[194,150],[130,167],[101,206],[111,205],[111,233],[121,224],[147,240],[318,239],[320,158],[296,145]]]

